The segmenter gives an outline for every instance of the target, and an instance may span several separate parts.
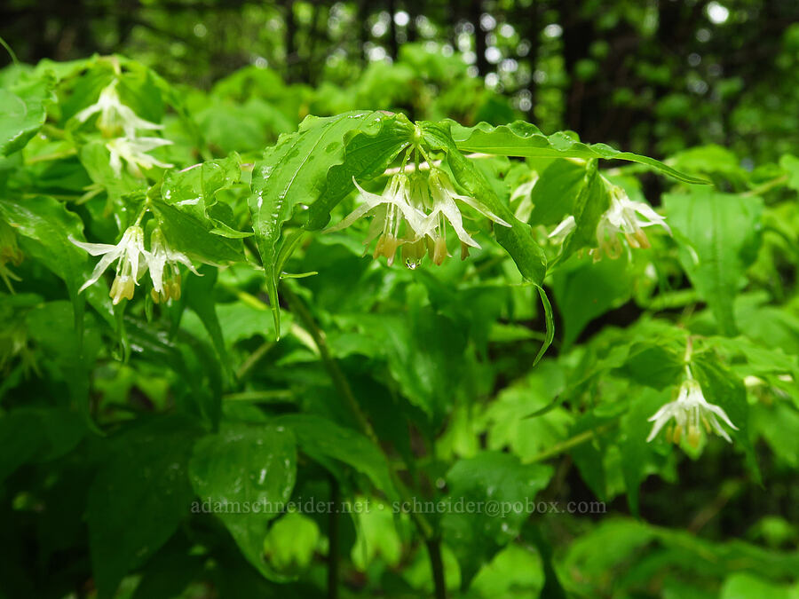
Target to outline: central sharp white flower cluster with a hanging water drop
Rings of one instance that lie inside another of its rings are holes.
[[[479,243],[463,226],[459,204],[475,209],[498,225],[510,227],[479,201],[455,192],[447,173],[437,167],[432,167],[429,174],[400,172],[380,195],[364,190],[354,178],[352,181],[363,203],[327,232],[344,229],[361,217],[373,217],[364,245],[377,239],[373,256],[385,256],[389,265],[393,264],[399,248],[408,268],[415,268],[425,254],[434,264],[442,264],[449,256],[447,224],[461,243],[462,259],[468,256],[469,248],[479,248]]]

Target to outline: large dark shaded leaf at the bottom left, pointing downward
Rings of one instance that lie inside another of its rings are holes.
[[[112,442],[112,457],[88,500],[91,567],[101,599],[114,596],[123,576],[187,516],[193,493],[186,467],[198,432],[184,417],[159,416]]]

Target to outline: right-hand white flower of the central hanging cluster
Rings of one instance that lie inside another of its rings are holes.
[[[455,188],[441,169],[433,168],[428,178],[430,187],[430,213],[427,215],[424,234],[429,238],[428,253],[435,264],[441,264],[447,257],[447,229],[445,224],[455,230],[455,235],[461,240],[461,258],[468,256],[469,248],[479,248],[477,241],[463,228],[463,215],[455,200],[463,202],[472,209],[477,210],[484,217],[490,218],[494,223],[510,227],[502,218],[497,217],[491,210],[482,206],[474,198],[455,192]]]

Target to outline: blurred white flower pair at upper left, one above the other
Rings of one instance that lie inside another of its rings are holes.
[[[138,130],[160,130],[163,125],[146,121],[133,112],[130,106],[123,104],[116,91],[118,80],[100,91],[99,99],[91,106],[84,108],[75,115],[80,122],[86,122],[93,114],[98,114],[97,127],[106,138],[111,138],[106,143],[111,154],[111,168],[117,177],[122,174],[123,161],[127,162],[131,175],[141,177],[141,169],[151,169],[154,166],[169,169],[171,164],[155,159],[147,152],[156,147],[169,146],[172,142],[168,139],[153,137],[137,137]]]

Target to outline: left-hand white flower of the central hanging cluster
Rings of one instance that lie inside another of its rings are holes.
[[[400,245],[418,240],[423,235],[424,213],[408,201],[407,175],[394,175],[380,195],[363,189],[354,177],[352,182],[358,188],[363,203],[340,223],[326,229],[325,233],[340,231],[360,217],[373,216],[364,245],[368,246],[377,238],[374,257],[385,256],[388,264],[392,265]]]

